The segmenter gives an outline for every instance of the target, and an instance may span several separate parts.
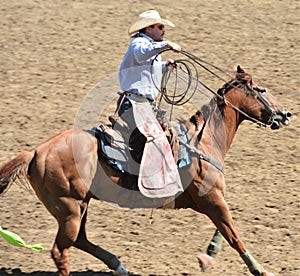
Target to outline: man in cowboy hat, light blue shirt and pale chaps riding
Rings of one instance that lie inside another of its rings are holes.
[[[138,150],[142,152],[141,158],[137,160],[143,167],[139,174],[148,174],[151,166],[153,169],[153,164],[147,163],[149,158],[157,161],[154,163],[164,163],[164,165],[156,164],[158,167],[168,167],[169,180],[171,179],[169,182],[176,182],[177,185],[177,190],[174,189],[162,195],[169,196],[182,190],[182,187],[172,151],[154,116],[151,105],[158,96],[157,87],[160,86],[163,70],[166,70],[168,66],[175,66],[173,60],[163,62],[159,55],[160,51],[164,49],[181,50],[178,44],[163,41],[165,25],[175,27],[171,21],[162,19],[156,10],[147,10],[141,13],[138,20],[129,28],[131,41],[119,70],[119,82],[124,92],[118,99],[117,113],[119,118],[129,125],[131,132],[138,130],[144,136],[144,141],[134,140],[130,145],[134,148],[138,147]],[[164,160],[162,157],[158,157],[159,154],[155,155],[158,147],[163,148],[163,152],[161,149],[159,151]],[[160,168],[157,169],[157,171],[159,170]],[[166,173],[166,171],[162,173]],[[151,179],[153,179],[152,176]],[[144,178],[144,181],[147,180]],[[152,184],[151,182],[149,185]],[[166,186],[169,184],[165,183]]]

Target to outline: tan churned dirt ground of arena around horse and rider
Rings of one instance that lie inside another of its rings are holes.
[[[73,128],[86,95],[117,72],[127,28],[148,8],[176,24],[165,39],[225,69],[241,64],[293,113],[290,126],[278,131],[240,127],[226,158],[226,199],[252,255],[275,275],[300,275],[298,0],[2,0],[0,164]],[[155,210],[152,225],[149,217],[149,210],[92,201],[89,238],[119,256],[132,275],[200,275],[196,256],[206,250],[212,223],[191,210]],[[44,244],[36,253],[0,239],[1,276],[54,275],[49,251],[56,222],[33,193],[13,186],[2,196],[0,225],[28,244]],[[71,268],[72,275],[110,275],[76,249]],[[249,272],[224,243],[203,275]]]

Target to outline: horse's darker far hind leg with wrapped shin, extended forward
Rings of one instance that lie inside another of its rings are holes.
[[[114,275],[127,276],[128,273],[125,267],[121,264],[121,262],[115,255],[99,246],[94,245],[87,239],[85,231],[86,218],[87,212],[85,212],[82,218],[80,231],[77,240],[74,243],[74,246],[104,262],[110,269],[114,270]]]

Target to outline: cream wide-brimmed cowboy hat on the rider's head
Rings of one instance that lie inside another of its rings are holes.
[[[175,24],[167,19],[162,19],[156,10],[148,10],[142,12],[139,15],[138,21],[136,21],[128,30],[130,35],[137,33],[139,30],[144,29],[148,26],[161,23],[170,27],[175,27]]]

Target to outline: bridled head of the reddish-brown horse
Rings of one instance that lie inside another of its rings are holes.
[[[241,121],[248,119],[278,129],[282,124],[288,125],[292,116],[240,66],[235,77],[218,90],[218,95],[224,106],[229,105],[240,113]]]

